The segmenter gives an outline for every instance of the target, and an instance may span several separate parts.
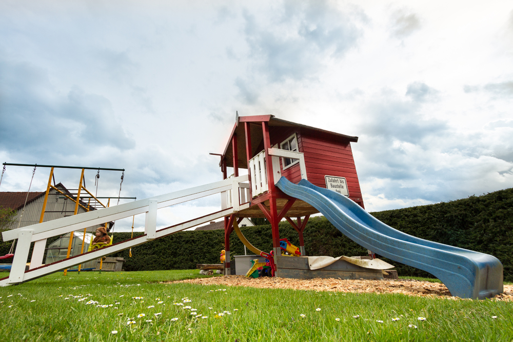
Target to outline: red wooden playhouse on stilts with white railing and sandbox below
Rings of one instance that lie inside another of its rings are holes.
[[[281,257],[280,253],[280,220],[287,219],[298,231],[300,253],[304,256],[303,230],[310,215],[319,213],[319,210],[280,190],[275,186],[279,178],[285,177],[292,183],[308,179],[313,185],[337,191],[364,208],[351,152],[351,143],[356,142],[356,136],[292,123],[273,115],[236,116],[235,125],[221,155],[220,166],[223,179],[228,178],[231,173],[228,168],[233,168],[230,177],[238,177],[240,168],[248,170],[249,191],[247,194],[241,192],[240,195],[245,198],[239,198],[240,202],[235,199],[233,202],[242,205],[245,200],[249,203],[249,208],[225,217],[225,274],[230,274],[230,234],[233,231],[233,220],[266,217],[272,227],[277,276],[383,277],[381,270],[368,269],[343,260],[330,265],[329,270],[311,272],[307,259]],[[231,204],[232,200],[228,198],[223,200],[222,207],[225,209]],[[297,221],[294,222],[292,218]]]

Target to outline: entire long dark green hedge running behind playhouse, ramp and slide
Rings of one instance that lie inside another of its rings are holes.
[[[448,203],[371,213],[385,224],[407,234],[446,245],[496,256],[504,266],[504,280],[513,281],[513,189],[482,196],[471,196]],[[241,228],[257,248],[272,248],[269,225]],[[138,236],[142,233],[134,233]],[[130,233],[114,233],[115,241],[130,238]],[[298,233],[280,224],[280,237],[299,246]],[[366,255],[363,247],[340,233],[324,217],[313,217],[304,231],[307,255]],[[231,256],[243,255],[244,246],[235,233],[230,235]],[[7,254],[11,242],[0,244],[0,255]],[[48,241],[47,244],[50,244]],[[145,245],[115,253],[126,259],[127,271],[193,269],[196,264],[219,263],[224,249],[224,231],[184,231],[156,239]],[[249,251],[248,251],[249,252]],[[430,276],[427,272],[388,260],[405,276]],[[29,255],[30,260],[30,255]]]

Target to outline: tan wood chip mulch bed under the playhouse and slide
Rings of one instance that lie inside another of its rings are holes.
[[[199,285],[245,286],[265,289],[293,289],[314,291],[339,291],[356,293],[402,293],[409,296],[437,297],[442,299],[460,299],[452,297],[449,290],[441,283],[430,283],[412,279],[384,280],[347,280],[347,279],[290,279],[278,277],[250,278],[243,275],[225,275],[210,278],[196,278],[172,283],[189,283]],[[504,285],[504,293],[495,299],[512,301],[513,285]]]

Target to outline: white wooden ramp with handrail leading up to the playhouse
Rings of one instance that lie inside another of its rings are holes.
[[[4,241],[18,239],[18,242],[14,252],[11,273],[9,274],[9,277],[0,279],[0,286],[18,284],[36,279],[50,273],[86,263],[87,261],[94,260],[108,254],[145,244],[155,238],[164,237],[181,230],[208,223],[212,220],[234,214],[239,210],[247,209],[249,208],[249,203],[240,203],[244,202],[245,198],[249,198],[246,194],[248,184],[244,183],[247,181],[248,176],[243,175],[199,187],[141,199],[115,207],[94,210],[28,227],[5,231],[2,233]],[[226,208],[226,206],[223,205],[221,211],[198,217],[172,227],[156,230],[158,209],[216,193],[221,193],[223,204],[227,202],[225,198],[229,198],[229,202],[232,206]],[[234,196],[232,194],[234,194]],[[42,266],[47,238],[142,213],[146,214],[144,235],[115,243],[112,246],[105,247],[100,250],[76,255]],[[34,242],[34,250],[31,259],[31,269],[25,271],[30,244],[32,242]]]

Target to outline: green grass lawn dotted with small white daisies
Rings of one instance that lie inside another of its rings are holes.
[[[0,288],[0,301],[3,301],[0,303],[3,317],[0,336],[3,341],[513,339],[511,303],[444,300],[403,294],[344,295],[160,283],[190,277],[205,276],[200,276],[196,270],[82,272],[80,275],[70,272],[66,277],[61,272],[26,284]],[[87,299],[78,301],[85,297]],[[186,297],[190,303],[183,303],[182,298]],[[87,305],[89,300],[98,304]],[[159,301],[163,303],[158,304]],[[96,305],[112,306],[102,308]],[[208,318],[194,318],[190,310],[184,309],[187,305]],[[321,310],[316,311],[317,308]],[[230,314],[216,317],[216,313],[223,311]],[[142,313],[144,317],[137,317]],[[155,316],[155,313],[162,314]],[[305,317],[302,318],[301,314]],[[360,317],[353,318],[356,315]],[[394,317],[400,320],[392,321]],[[426,320],[419,321],[418,317]],[[135,323],[127,325],[128,318]],[[172,321],[172,318],[178,319]],[[146,322],[147,319],[152,321]],[[408,328],[408,325],[418,328]],[[116,334],[111,333],[114,330]]]

